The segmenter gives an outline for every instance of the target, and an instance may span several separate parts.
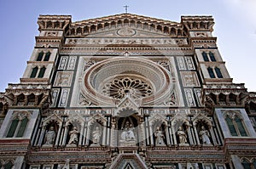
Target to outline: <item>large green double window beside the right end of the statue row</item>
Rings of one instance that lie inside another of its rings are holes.
[[[225,118],[232,136],[247,137],[247,131],[240,116],[230,113]]]

